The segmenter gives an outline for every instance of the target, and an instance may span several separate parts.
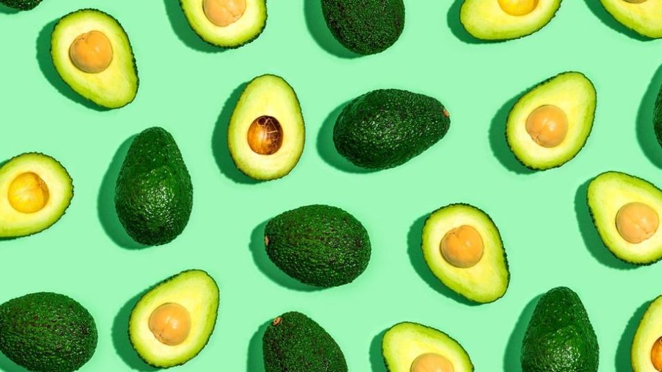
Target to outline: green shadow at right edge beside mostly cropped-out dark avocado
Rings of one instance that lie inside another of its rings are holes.
[[[650,79],[648,89],[639,105],[639,112],[636,114],[636,139],[648,160],[656,167],[662,168],[662,148],[653,129],[653,110],[660,85],[662,85],[662,67],[658,68]]]

